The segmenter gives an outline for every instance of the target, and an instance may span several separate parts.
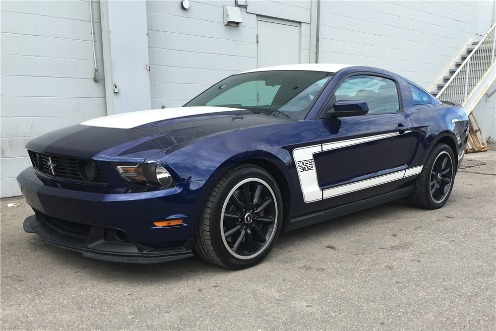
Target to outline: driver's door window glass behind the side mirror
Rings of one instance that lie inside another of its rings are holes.
[[[330,103],[339,100],[365,101],[369,114],[394,113],[399,110],[396,83],[388,78],[358,75],[346,78],[340,83]]]

